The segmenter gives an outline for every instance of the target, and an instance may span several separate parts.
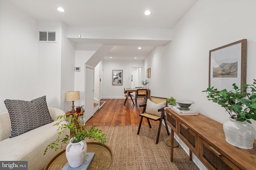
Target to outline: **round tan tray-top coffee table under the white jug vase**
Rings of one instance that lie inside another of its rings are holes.
[[[97,142],[86,142],[86,144],[87,152],[95,153],[88,170],[108,170],[112,164],[112,150],[107,145],[103,147]],[[64,149],[48,162],[44,170],[61,170],[67,162],[66,149]]]

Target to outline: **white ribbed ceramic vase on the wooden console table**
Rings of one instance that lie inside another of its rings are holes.
[[[226,141],[243,149],[252,149],[255,139],[255,129],[246,121],[236,121],[231,117],[223,123]]]

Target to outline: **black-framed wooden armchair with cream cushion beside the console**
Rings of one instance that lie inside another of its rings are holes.
[[[154,121],[160,121],[159,127],[158,127],[158,133],[156,137],[156,144],[158,144],[163,119],[164,119],[164,124],[166,127],[167,134],[170,135],[170,132],[168,131],[168,126],[166,123],[165,113],[164,113],[164,107],[167,106],[166,100],[167,100],[166,98],[158,98],[158,97],[152,96],[150,98],[150,101],[148,101],[146,104],[140,105],[140,107],[144,107],[144,108],[142,110],[142,114],[140,114],[141,118],[140,118],[140,125],[138,128],[137,135],[139,135],[140,133],[140,127],[141,127],[143,117],[145,117],[148,120],[148,125],[150,128],[151,128],[151,124],[149,119]]]

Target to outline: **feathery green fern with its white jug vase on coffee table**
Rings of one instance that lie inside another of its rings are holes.
[[[101,143],[102,146],[105,145],[107,139],[107,136],[101,133],[101,130],[99,130],[95,126],[90,127],[89,130],[85,129],[81,125],[79,115],[76,114],[68,118],[66,118],[66,115],[61,115],[57,117],[57,120],[63,118],[65,119],[64,121],[60,120],[59,122],[54,124],[55,126],[58,126],[57,131],[59,129],[61,129],[61,131],[58,132],[57,139],[50,143],[44,149],[45,155],[48,149],[54,149],[55,151],[57,151],[58,149],[62,149],[62,145],[64,143],[70,141],[66,147],[66,158],[72,168],[76,168],[84,162],[84,157],[86,156],[87,151],[87,145],[85,142],[86,138],[97,141]],[[66,130],[70,131],[70,135],[66,135],[65,138],[60,139],[60,135]],[[58,143],[61,143],[61,145],[59,146]]]

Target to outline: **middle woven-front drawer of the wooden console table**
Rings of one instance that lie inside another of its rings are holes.
[[[178,134],[189,149],[191,149],[195,154],[198,153],[196,152],[197,134],[181,121],[178,121]]]

